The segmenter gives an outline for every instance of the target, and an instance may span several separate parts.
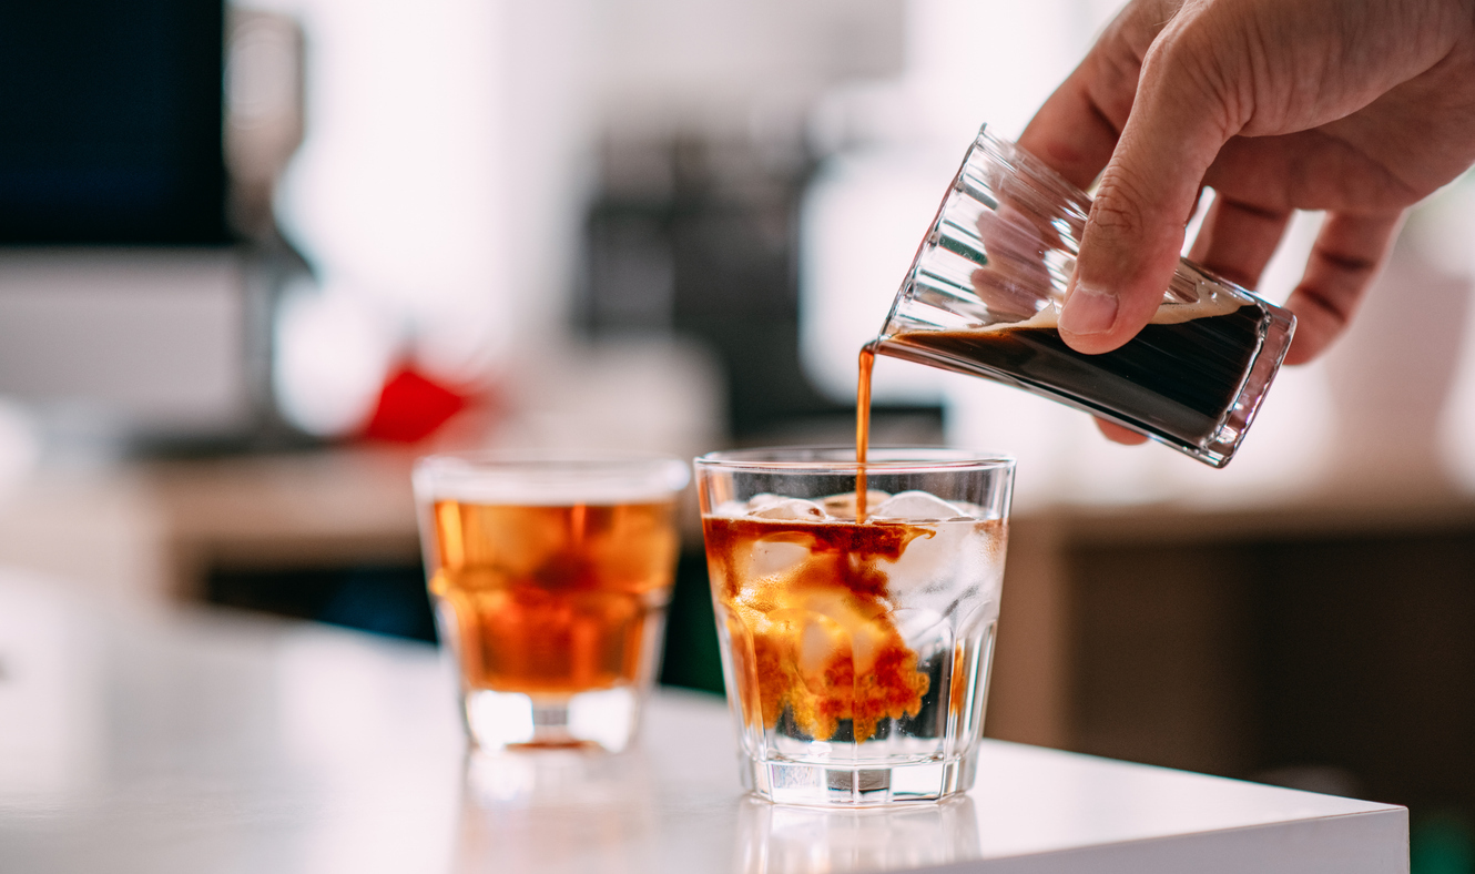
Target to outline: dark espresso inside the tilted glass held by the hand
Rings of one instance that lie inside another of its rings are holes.
[[[1239,397],[1267,313],[1258,304],[1148,325],[1121,348],[1083,354],[1056,328],[904,331],[879,351],[1044,388],[1094,413],[1202,446]]]

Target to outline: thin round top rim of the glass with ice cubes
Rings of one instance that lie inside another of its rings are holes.
[[[848,456],[848,458],[845,458]],[[695,459],[698,469],[771,471],[783,474],[858,472],[856,446],[771,446],[708,452]],[[867,472],[931,472],[1013,469],[1015,458],[1000,452],[948,446],[872,446]]]

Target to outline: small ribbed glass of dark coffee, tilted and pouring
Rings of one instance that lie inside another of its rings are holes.
[[[1184,258],[1136,338],[1078,353],[1058,317],[1089,213],[1086,192],[984,125],[876,351],[997,379],[1224,467],[1291,347],[1295,316]]]

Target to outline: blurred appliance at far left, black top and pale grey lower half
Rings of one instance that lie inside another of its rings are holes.
[[[0,0],[0,396],[62,437],[239,441],[270,416],[226,37],[218,0]]]

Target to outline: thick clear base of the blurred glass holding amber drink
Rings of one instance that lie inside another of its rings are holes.
[[[633,687],[530,695],[472,689],[463,697],[466,734],[481,750],[591,747],[618,753],[640,719]]]

